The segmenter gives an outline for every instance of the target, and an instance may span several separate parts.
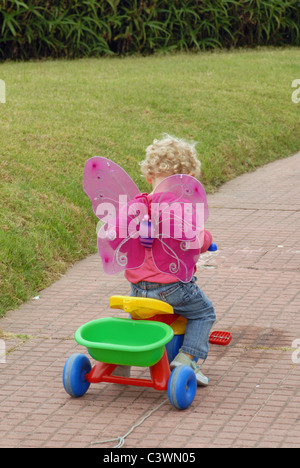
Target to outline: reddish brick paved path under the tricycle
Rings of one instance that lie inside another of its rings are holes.
[[[233,340],[211,346],[210,385],[198,388],[192,406],[165,403],[125,448],[300,446],[299,180],[300,153],[209,197],[207,227],[219,250],[201,259],[198,283],[215,304],[214,329],[231,331]],[[78,399],[63,389],[66,359],[86,352],[73,340],[76,328],[124,316],[108,300],[128,292],[122,276],[105,276],[91,256],[0,320],[9,351],[0,363],[0,447],[111,447],[90,442],[125,434],[167,398],[103,383]]]

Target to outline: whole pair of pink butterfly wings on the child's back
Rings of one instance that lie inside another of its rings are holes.
[[[183,282],[191,279],[208,218],[198,180],[185,174],[167,177],[150,204],[151,196],[141,194],[120,166],[96,156],[85,165],[83,188],[103,223],[97,242],[105,273],[142,266],[148,248],[158,270]]]

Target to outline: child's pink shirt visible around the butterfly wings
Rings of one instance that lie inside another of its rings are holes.
[[[151,195],[149,196],[149,202],[151,203]],[[212,243],[212,235],[206,229],[204,230],[204,242],[201,248],[201,253],[207,251]],[[196,272],[196,267],[195,267]],[[150,283],[175,283],[179,281],[175,276],[162,273],[158,270],[153,262],[151,249],[146,249],[146,259],[143,265],[139,268],[132,268],[125,270],[125,278],[130,283],[138,283],[139,281],[149,281]]]

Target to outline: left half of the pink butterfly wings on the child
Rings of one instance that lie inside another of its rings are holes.
[[[128,214],[128,202],[140,193],[131,177],[115,162],[95,156],[84,168],[83,189],[92,201],[93,211],[105,224],[97,233],[103,270],[117,274],[125,268],[138,268],[145,261],[145,249],[138,233],[124,235],[135,215]],[[138,225],[138,222],[136,221]]]

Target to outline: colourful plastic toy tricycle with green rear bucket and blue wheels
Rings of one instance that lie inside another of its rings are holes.
[[[107,317],[90,321],[75,332],[75,341],[85,346],[96,361],[92,367],[85,354],[74,353],[65,363],[63,385],[72,397],[84,395],[91,383],[109,382],[152,387],[167,391],[177,409],[194,401],[197,382],[189,366],[169,363],[182,344],[186,319],[163,301],[131,296],[112,296],[110,307],[124,310],[128,318]],[[227,345],[229,332],[212,332],[210,343]],[[150,368],[150,379],[112,375],[118,366]]]

